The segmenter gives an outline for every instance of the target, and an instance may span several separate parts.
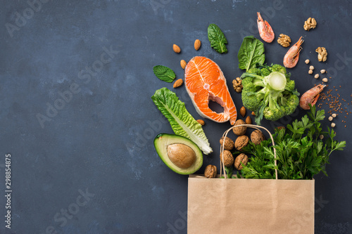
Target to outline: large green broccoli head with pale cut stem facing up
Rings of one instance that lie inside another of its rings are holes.
[[[256,112],[256,123],[261,119],[277,121],[296,110],[299,93],[290,74],[282,65],[260,65],[241,75],[242,102],[245,108]]]

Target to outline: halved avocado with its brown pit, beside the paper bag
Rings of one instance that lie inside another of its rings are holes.
[[[203,164],[203,153],[199,147],[183,136],[158,134],[154,147],[161,160],[178,174],[193,174]]]

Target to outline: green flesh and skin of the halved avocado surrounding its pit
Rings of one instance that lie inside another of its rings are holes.
[[[178,143],[187,145],[192,148],[194,152],[196,152],[196,162],[194,162],[194,164],[187,169],[177,167],[171,162],[168,157],[168,145]],[[198,145],[196,145],[193,141],[189,140],[188,138],[185,138],[184,136],[179,136],[176,134],[158,134],[156,138],[154,138],[154,147],[159,157],[161,158],[161,160],[163,160],[166,166],[172,169],[172,171],[175,171],[177,174],[194,174],[194,172],[198,171],[203,165],[203,152],[201,152]]]

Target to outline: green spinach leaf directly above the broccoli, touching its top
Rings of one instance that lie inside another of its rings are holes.
[[[265,60],[264,44],[253,36],[244,37],[237,55],[239,69],[248,71],[256,67],[256,63],[263,64]]]

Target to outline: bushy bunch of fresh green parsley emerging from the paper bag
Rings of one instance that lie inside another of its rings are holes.
[[[275,178],[275,168],[281,179],[312,179],[320,171],[327,176],[325,165],[329,163],[329,156],[335,150],[343,150],[346,141],[334,141],[336,133],[329,127],[327,132],[322,131],[320,121],[324,118],[325,111],[316,111],[313,106],[301,121],[296,119],[286,129],[275,129],[275,146],[270,139],[260,145],[249,143],[244,152],[253,156],[241,170],[241,176]],[[273,148],[277,153],[277,167]]]

